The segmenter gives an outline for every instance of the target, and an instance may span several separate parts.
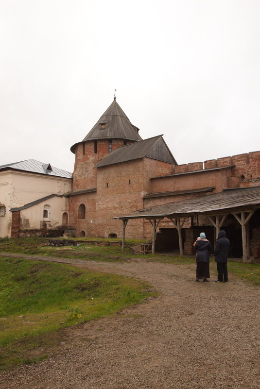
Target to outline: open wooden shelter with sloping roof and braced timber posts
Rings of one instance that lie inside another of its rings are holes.
[[[124,251],[125,227],[129,219],[147,219],[153,225],[152,253],[155,252],[156,228],[167,218],[178,230],[180,255],[182,250],[181,229],[187,218],[199,215],[208,216],[216,228],[216,236],[228,214],[233,214],[242,226],[243,261],[248,259],[249,238],[246,226],[256,209],[260,208],[260,186],[225,189],[223,192],[195,197],[181,202],[156,205],[140,209],[114,219],[122,220],[122,252]]]

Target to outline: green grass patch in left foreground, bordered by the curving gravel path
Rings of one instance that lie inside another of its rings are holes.
[[[111,315],[151,292],[134,278],[0,257],[0,369],[37,361],[60,329]],[[43,350],[44,351],[44,350]]]

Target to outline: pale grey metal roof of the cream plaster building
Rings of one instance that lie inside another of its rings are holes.
[[[55,168],[50,164],[44,164],[43,162],[36,161],[35,159],[26,159],[25,161],[0,166],[0,170],[6,170],[8,168],[64,178],[71,178],[72,175],[69,171]]]

